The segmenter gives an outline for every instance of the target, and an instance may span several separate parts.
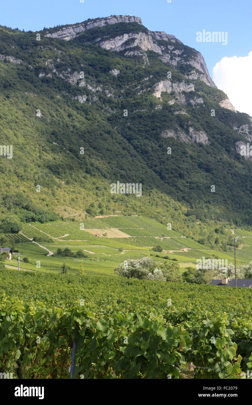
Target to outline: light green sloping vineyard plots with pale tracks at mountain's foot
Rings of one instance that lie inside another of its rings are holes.
[[[100,237],[94,234],[99,233]],[[235,230],[240,234],[240,246],[237,249],[237,265],[252,260],[252,237],[250,232]],[[105,235],[105,236],[103,236]],[[128,236],[127,236],[128,235]],[[27,238],[36,238],[38,244]],[[19,241],[17,240],[19,239]],[[181,272],[186,266],[196,267],[196,260],[205,258],[227,259],[234,262],[234,248],[222,252],[210,249],[194,239],[184,237],[175,230],[155,220],[139,216],[109,216],[85,219],[80,217],[59,222],[24,224],[22,233],[4,236],[8,244],[15,239],[15,250],[28,257],[29,262],[21,260],[20,268],[41,272],[60,271],[63,263],[70,273],[76,273],[81,267],[101,274],[114,274],[114,267],[128,259],[140,259],[150,256],[157,261],[176,260]],[[17,243],[18,242],[18,243]],[[163,252],[154,252],[152,247],[160,245]],[[7,247],[7,246],[6,246]],[[69,248],[73,254],[82,250],[85,258],[64,258],[47,256],[49,251],[56,253],[58,248]],[[159,257],[156,257],[159,256]],[[17,268],[17,258],[5,260],[9,268]]]

